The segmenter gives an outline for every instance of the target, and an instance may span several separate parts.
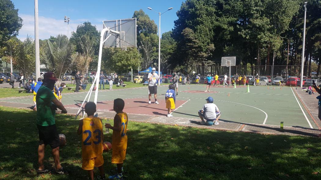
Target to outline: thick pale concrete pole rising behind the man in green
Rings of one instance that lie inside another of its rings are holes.
[[[40,78],[40,52],[39,52],[39,19],[38,0],[35,0],[35,56],[36,79]],[[26,75],[26,74],[25,74]]]

